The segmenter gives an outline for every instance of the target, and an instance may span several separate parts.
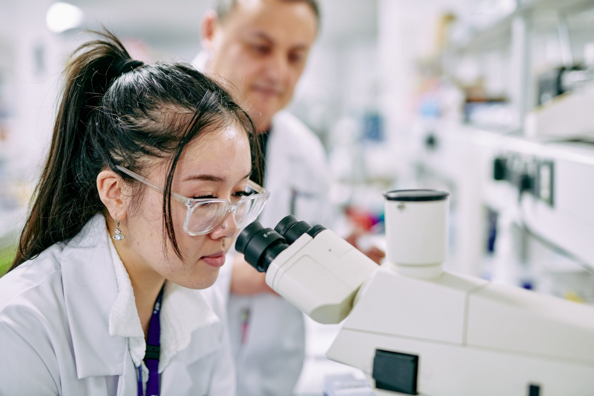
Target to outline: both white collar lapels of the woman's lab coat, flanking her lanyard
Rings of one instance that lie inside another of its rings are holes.
[[[127,355],[129,349],[134,358],[132,350],[135,346],[131,344],[129,347],[128,343],[140,336],[143,352],[146,344],[134,295],[130,299],[128,294],[132,293],[132,287],[127,273],[125,280],[130,287],[126,289],[124,296],[121,294],[122,290],[118,292],[118,281],[124,274],[116,275],[116,272],[119,265],[124,272],[125,267],[109,239],[105,217],[96,214],[91,218],[83,230],[65,244],[62,256],[64,299],[78,378],[122,375],[126,365],[137,365]],[[119,262],[114,262],[115,260]],[[119,309],[116,308],[118,305],[121,311],[114,313],[114,309]],[[119,316],[118,319],[124,318],[128,321],[125,323],[132,325],[118,326],[113,321],[110,323],[110,315]],[[135,327],[134,320],[137,321],[140,332]],[[163,373],[163,385],[168,382],[177,384],[176,389],[179,389],[178,385],[190,387],[191,381],[187,381],[189,374],[185,366],[220,347],[219,335],[222,330],[219,316],[200,290],[166,282],[160,321],[159,372],[162,373],[166,366],[176,360],[178,354],[184,362],[177,365],[175,370]],[[193,346],[188,348],[191,342]],[[144,353],[140,359],[142,357]],[[134,360],[137,359],[138,356]]]

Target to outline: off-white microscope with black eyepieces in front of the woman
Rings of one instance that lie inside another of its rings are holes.
[[[378,396],[594,395],[594,308],[444,271],[449,194],[384,198],[381,266],[292,216],[249,224],[235,248],[310,318],[343,322],[326,356]]]

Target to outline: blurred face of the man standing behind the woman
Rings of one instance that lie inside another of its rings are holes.
[[[224,21],[214,18],[210,32],[203,37],[211,53],[207,72],[238,94],[265,131],[303,72],[317,34],[314,10],[303,1],[239,0]]]

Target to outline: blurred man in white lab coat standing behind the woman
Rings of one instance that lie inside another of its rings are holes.
[[[304,71],[320,27],[316,0],[217,0],[201,24],[203,52],[194,59],[251,115],[264,151],[271,192],[259,218],[274,228],[288,214],[328,224],[330,181],[318,137],[283,110]],[[235,254],[217,286],[230,292],[229,331],[239,396],[289,396],[305,358],[303,315]],[[225,273],[228,275],[225,276]]]

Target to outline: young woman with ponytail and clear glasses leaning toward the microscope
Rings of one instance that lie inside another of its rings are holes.
[[[75,52],[12,270],[0,278],[0,394],[232,395],[214,291],[267,192],[254,125],[183,64],[110,33]]]

